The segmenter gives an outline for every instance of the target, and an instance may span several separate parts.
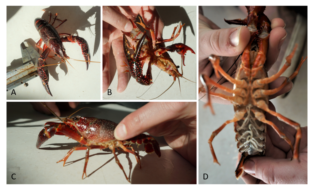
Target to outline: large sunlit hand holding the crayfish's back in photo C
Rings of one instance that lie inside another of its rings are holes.
[[[126,140],[143,132],[164,136],[172,149],[196,167],[196,102],[149,102],[125,117],[114,135]]]

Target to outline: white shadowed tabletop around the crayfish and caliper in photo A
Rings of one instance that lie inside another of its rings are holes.
[[[49,13],[59,13],[58,19],[67,19],[57,31],[70,33],[83,37],[89,45],[91,61],[100,62],[100,7],[47,7],[47,6],[22,6],[7,7],[7,69],[15,69],[22,66],[20,44],[29,41],[37,50],[35,44],[40,35],[34,26],[34,20],[38,17],[49,21]],[[11,16],[11,14],[13,14]],[[54,19],[54,16],[51,16]],[[60,24],[56,21],[54,26]],[[52,24],[52,22],[51,22]],[[84,60],[81,48],[76,43],[63,43],[66,53],[70,58]],[[95,52],[94,52],[95,51]],[[41,51],[40,51],[41,53]],[[51,53],[51,55],[53,55]],[[57,63],[48,58],[47,64]],[[12,90],[7,91],[7,99],[15,100],[95,100],[100,99],[100,63],[90,63],[86,71],[86,63],[69,60],[68,71],[64,63],[49,66],[49,87],[53,95],[51,97],[44,89],[39,77],[28,82],[29,86],[23,85],[14,88],[16,95],[11,95]]]

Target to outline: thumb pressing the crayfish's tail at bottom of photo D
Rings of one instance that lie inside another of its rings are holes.
[[[252,157],[244,163],[244,171],[267,184],[300,184],[307,174],[307,164],[290,159]],[[307,178],[307,177],[306,177]]]

